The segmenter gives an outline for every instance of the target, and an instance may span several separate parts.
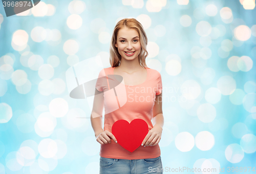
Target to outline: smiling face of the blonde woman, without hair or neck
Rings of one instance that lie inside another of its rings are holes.
[[[126,60],[134,60],[140,54],[140,38],[139,33],[135,29],[122,28],[117,34],[115,44],[119,54]]]

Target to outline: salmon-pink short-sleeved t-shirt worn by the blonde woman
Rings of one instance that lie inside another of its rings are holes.
[[[96,82],[96,89],[103,91],[104,96],[105,118],[103,130],[112,133],[112,125],[115,121],[126,120],[131,123],[137,118],[143,119],[147,123],[148,130],[152,129],[153,106],[156,95],[162,92],[161,74],[157,70],[146,68],[147,77],[144,82],[138,85],[125,85],[123,81],[122,83],[117,82],[118,78],[114,76],[114,69],[115,67],[102,69]],[[100,77],[105,77],[107,82],[100,81]],[[118,85],[111,86],[111,84]],[[145,147],[140,145],[132,153],[112,139],[111,143],[101,144],[100,146],[99,155],[104,158],[134,160],[156,158],[161,155],[158,144]]]

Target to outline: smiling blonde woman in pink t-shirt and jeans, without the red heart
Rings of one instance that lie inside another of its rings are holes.
[[[146,67],[146,45],[145,31],[136,19],[125,18],[116,24],[110,46],[111,67],[99,73],[91,115],[96,140],[101,144],[100,173],[162,173],[158,145],[164,122],[162,79],[158,71]],[[125,84],[117,80],[118,75]],[[100,81],[101,77],[106,77],[107,82]],[[111,86],[117,81],[120,83]],[[147,123],[148,133],[141,146],[131,153],[118,144],[112,125],[117,120],[131,123],[138,118]]]

